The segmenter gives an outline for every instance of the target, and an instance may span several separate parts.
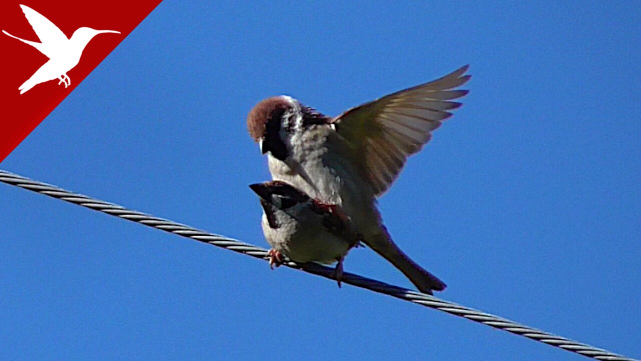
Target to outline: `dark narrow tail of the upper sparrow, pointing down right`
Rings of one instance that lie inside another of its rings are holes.
[[[385,230],[385,227],[383,227],[383,230]],[[437,276],[420,267],[407,254],[401,251],[386,230],[384,233],[368,237],[365,243],[403,272],[420,292],[431,295],[432,290],[442,291],[447,287]]]

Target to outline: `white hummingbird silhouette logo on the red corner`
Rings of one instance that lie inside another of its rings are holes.
[[[20,39],[4,30],[2,32],[13,39],[18,39],[25,44],[33,46],[33,48],[38,49],[40,53],[43,53],[49,58],[40,69],[31,75],[31,78],[20,85],[18,88],[20,94],[23,94],[37,84],[54,79],[60,80],[58,85],[65,84],[65,88],[68,87],[71,85],[71,79],[67,75],[67,72],[78,65],[80,56],[89,41],[101,33],[120,33],[120,31],[115,30],[94,30],[83,27],[74,31],[71,39],[67,39],[67,35],[53,22],[49,21],[49,19],[40,15],[40,13],[32,8],[29,8],[29,6],[20,5],[20,7],[29,25],[31,25],[33,31],[38,35],[40,42]]]

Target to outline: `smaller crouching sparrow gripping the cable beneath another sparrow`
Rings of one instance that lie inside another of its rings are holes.
[[[263,207],[263,234],[272,247],[269,266],[281,265],[283,255],[299,263],[338,262],[335,276],[340,287],[345,255],[360,241],[340,207],[319,202],[279,180],[249,188],[260,197]]]

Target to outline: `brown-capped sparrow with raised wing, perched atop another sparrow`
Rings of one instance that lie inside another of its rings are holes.
[[[340,206],[363,242],[426,294],[445,283],[420,267],[392,240],[376,206],[398,177],[407,157],[428,143],[449,118],[454,90],[469,80],[461,67],[440,79],[369,101],[336,117],[321,114],[290,96],[260,101],[247,116],[247,129],[267,154],[272,179],[281,180],[325,204]]]

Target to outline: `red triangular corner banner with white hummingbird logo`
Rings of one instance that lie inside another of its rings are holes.
[[[160,1],[0,2],[0,162]]]

